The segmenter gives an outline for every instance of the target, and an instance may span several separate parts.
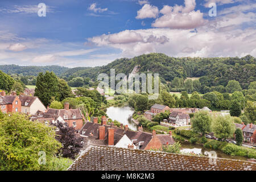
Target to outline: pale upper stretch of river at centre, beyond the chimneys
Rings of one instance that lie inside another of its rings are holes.
[[[106,114],[110,119],[117,120],[120,123],[123,123],[123,126],[128,125],[129,129],[137,131],[137,125],[131,121],[131,116],[133,115],[134,109],[131,107],[124,106],[111,106],[106,109]]]

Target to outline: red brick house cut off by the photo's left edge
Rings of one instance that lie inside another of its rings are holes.
[[[0,92],[0,110],[2,113],[20,113],[21,102],[18,96],[6,96],[5,91]]]

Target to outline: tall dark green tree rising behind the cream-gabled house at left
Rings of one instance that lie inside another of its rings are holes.
[[[51,103],[52,97],[59,98],[59,82],[53,72],[39,73],[36,77],[35,96],[43,102],[45,106]]]

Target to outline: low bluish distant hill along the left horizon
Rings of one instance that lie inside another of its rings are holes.
[[[57,65],[45,66],[45,67],[36,67],[36,66],[19,66],[19,65],[0,65],[0,70],[11,74],[23,74],[23,76],[37,76],[40,72],[54,72],[57,76],[60,76],[65,71],[68,71],[69,68],[60,67]]]

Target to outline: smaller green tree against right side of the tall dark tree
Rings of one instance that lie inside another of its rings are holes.
[[[59,94],[57,96],[58,101],[63,101],[65,98],[68,98],[68,97],[74,97],[71,87],[68,86],[68,83],[65,80],[58,78],[58,87],[59,87]]]

